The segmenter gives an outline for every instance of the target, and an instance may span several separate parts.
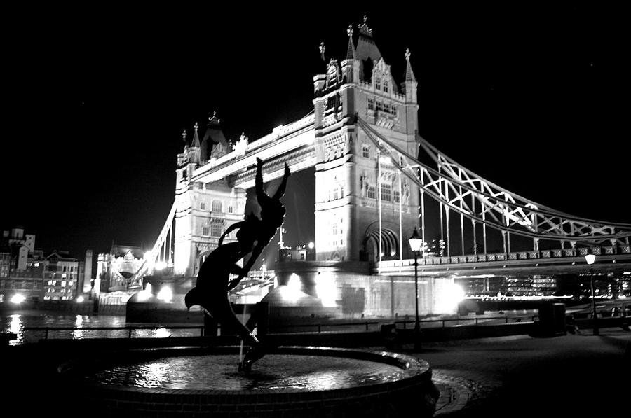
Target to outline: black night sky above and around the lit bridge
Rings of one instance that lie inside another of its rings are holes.
[[[227,138],[252,140],[305,116],[320,42],[327,60],[343,58],[346,28],[365,14],[399,82],[412,52],[431,144],[535,202],[631,223],[624,11],[249,7],[4,13],[2,227],[81,259],[112,242],[149,247],[172,204],[182,130],[217,110]],[[313,239],[313,225],[297,225],[313,207],[291,201],[312,189],[292,176],[289,245]]]

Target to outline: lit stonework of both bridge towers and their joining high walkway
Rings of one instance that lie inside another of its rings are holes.
[[[315,165],[317,260],[409,258],[405,237],[418,224],[418,195],[380,158],[356,116],[416,154],[416,80],[406,55],[405,81],[395,81],[365,25],[354,38],[348,32],[346,58],[329,60],[325,73],[313,78],[313,115],[256,141],[242,134],[234,145],[223,137],[216,116],[203,141],[197,127],[191,141],[184,136],[184,151],[177,156],[175,274],[196,274],[200,256],[215,248],[219,231],[243,219],[256,158],[266,161],[265,182],[282,176],[285,163],[292,172]],[[213,209],[214,201],[221,210]]]

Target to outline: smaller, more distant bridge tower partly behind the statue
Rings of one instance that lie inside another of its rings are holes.
[[[191,142],[182,133],[184,151],[177,155],[175,180],[175,237],[173,272],[193,276],[203,257],[217,248],[229,225],[243,220],[245,190],[233,188],[224,179],[212,183],[194,181],[194,171],[231,151],[215,114],[208,118],[203,141],[198,125]],[[226,237],[231,242],[233,234]]]

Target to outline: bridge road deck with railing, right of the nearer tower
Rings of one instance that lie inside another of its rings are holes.
[[[517,251],[469,256],[419,258],[419,276],[578,274],[589,271],[585,262],[588,251],[597,254],[594,273],[616,275],[631,272],[631,246],[595,246],[591,248]],[[371,274],[414,277],[414,260],[388,260],[375,263]]]

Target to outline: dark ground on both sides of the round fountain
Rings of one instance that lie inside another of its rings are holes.
[[[418,351],[402,351],[433,368],[441,391],[437,417],[631,416],[631,332],[621,328],[602,329],[599,336],[583,330],[550,338],[425,342]],[[1,354],[0,416],[83,418],[100,410],[100,405],[78,407],[77,394],[60,387],[50,368],[76,352]]]

